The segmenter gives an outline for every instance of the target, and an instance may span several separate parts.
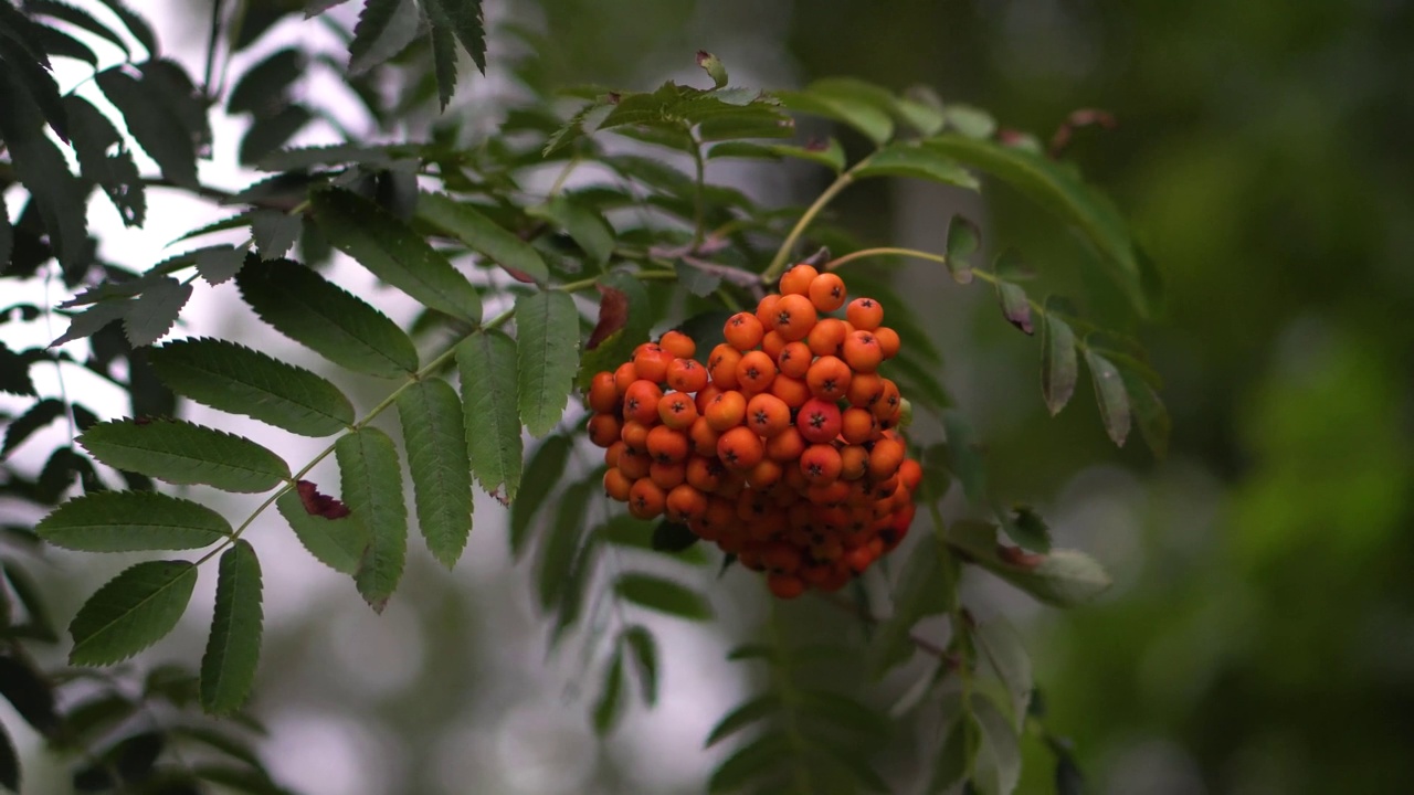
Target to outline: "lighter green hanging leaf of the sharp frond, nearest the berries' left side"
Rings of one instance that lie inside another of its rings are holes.
[[[554,430],[580,366],[580,310],[567,293],[516,298],[516,369],[520,420],[530,436]]]

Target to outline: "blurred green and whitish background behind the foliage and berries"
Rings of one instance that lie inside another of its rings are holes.
[[[205,4],[141,6],[174,52],[198,64]],[[896,272],[946,354],[946,382],[980,429],[998,489],[1036,505],[1063,545],[1116,577],[1099,604],[1070,613],[1035,607],[983,576],[966,583],[967,600],[1022,629],[1048,726],[1073,738],[1089,792],[1414,787],[1414,3],[488,8],[493,25],[544,30],[546,68],[566,83],[691,79],[701,48],[747,85],[833,75],[895,89],[925,83],[1044,137],[1072,110],[1111,112],[1117,127],[1079,132],[1069,154],[1133,219],[1165,274],[1167,306],[1141,327],[1103,291],[1092,308],[1135,330],[1167,381],[1167,460],[1137,439],[1116,450],[1089,395],[1051,419],[1038,345],[1000,318],[983,286],[954,286],[922,265]],[[271,48],[314,35],[297,17],[283,25]],[[508,41],[493,41],[491,76],[452,112],[493,113],[506,81],[495,52]],[[230,166],[238,134],[218,129],[204,178],[240,184]],[[718,178],[796,199],[823,187],[809,170],[765,166]],[[116,260],[146,267],[168,240],[216,216],[175,198],[158,212],[153,201],[153,231],[105,242],[123,252],[110,253]],[[1000,185],[978,202],[901,181],[867,184],[841,198],[836,218],[870,240],[936,250],[956,211],[983,224],[990,246],[1027,252],[1044,286],[1083,287],[1075,240]],[[96,226],[116,226],[93,212]],[[233,291],[206,293],[192,304],[194,330],[263,340],[247,313],[226,311]],[[257,528],[270,570],[257,712],[271,726],[276,772],[312,795],[700,791],[723,753],[701,751],[701,738],[755,683],[751,668],[721,656],[759,631],[768,610],[759,584],[728,576],[711,586],[727,617],[715,627],[655,622],[663,700],[635,707],[600,741],[587,719],[597,683],[584,676],[594,644],[546,654],[547,627],[530,608],[523,567],[509,566],[501,513],[478,502],[477,522],[454,573],[414,555],[382,617],[276,523]],[[55,564],[71,579],[55,594],[61,615],[107,573],[81,557]],[[713,580],[708,570],[682,576]],[[197,659],[211,598],[202,593],[189,627],[150,659]],[[805,634],[850,622],[786,610]],[[932,741],[926,721],[915,729],[885,760],[902,792],[918,791]],[[1051,791],[1046,753],[1036,743],[1025,751],[1022,791]],[[58,791],[45,787],[58,787],[62,771],[45,772],[42,755],[34,764],[33,792]]]

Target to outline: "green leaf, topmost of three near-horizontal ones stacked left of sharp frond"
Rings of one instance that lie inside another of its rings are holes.
[[[354,424],[352,403],[327,379],[236,342],[168,342],[147,362],[180,395],[291,433],[332,436]]]

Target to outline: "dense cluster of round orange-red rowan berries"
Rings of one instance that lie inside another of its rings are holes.
[[[837,590],[898,546],[923,474],[896,431],[898,386],[877,372],[899,337],[878,301],[846,300],[839,276],[796,265],[727,320],[706,364],[669,331],[597,373],[588,431],[608,495],[684,522],[782,598]]]

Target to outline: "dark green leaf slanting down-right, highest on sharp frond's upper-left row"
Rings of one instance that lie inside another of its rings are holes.
[[[311,202],[334,248],[424,306],[481,323],[477,289],[410,226],[351,191],[318,191]]]

